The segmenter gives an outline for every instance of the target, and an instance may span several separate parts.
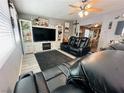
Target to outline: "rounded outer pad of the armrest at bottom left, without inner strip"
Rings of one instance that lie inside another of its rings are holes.
[[[14,93],[38,93],[33,72],[20,76],[16,83]]]

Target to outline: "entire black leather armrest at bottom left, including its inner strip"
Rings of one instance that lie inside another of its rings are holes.
[[[14,93],[49,93],[49,89],[42,72],[29,72],[19,77]]]

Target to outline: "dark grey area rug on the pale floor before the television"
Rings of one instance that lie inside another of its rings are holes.
[[[42,71],[73,60],[57,50],[36,53],[35,57]]]

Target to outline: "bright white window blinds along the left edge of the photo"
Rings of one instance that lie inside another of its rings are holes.
[[[0,0],[0,68],[15,46],[7,0]]]

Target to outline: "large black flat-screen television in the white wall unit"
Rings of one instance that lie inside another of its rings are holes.
[[[34,42],[56,40],[56,29],[33,27],[32,30]]]

